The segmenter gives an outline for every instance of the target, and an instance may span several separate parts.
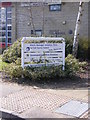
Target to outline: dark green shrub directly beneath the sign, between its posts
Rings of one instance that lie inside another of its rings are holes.
[[[57,77],[62,76],[61,66],[51,66],[51,67],[40,67],[40,68],[30,68],[26,67],[24,69],[23,75],[25,78],[31,80],[50,80],[56,79]]]

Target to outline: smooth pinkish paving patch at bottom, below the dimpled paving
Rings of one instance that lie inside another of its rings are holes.
[[[33,107],[20,114],[22,118],[73,118],[72,116],[56,114],[40,107]]]

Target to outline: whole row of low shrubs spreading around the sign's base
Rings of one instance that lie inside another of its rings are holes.
[[[38,68],[25,67],[21,68],[20,65],[11,63],[3,70],[11,78],[24,78],[29,80],[52,80],[59,79],[61,77],[70,77],[76,75],[79,71],[83,70],[86,66],[86,62],[79,62],[72,55],[68,55],[65,59],[65,71],[62,70],[62,66],[45,66]]]

